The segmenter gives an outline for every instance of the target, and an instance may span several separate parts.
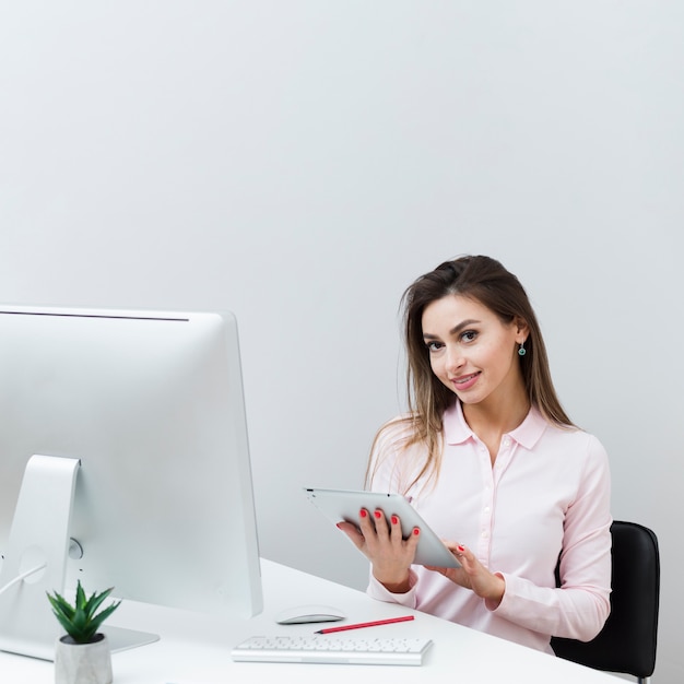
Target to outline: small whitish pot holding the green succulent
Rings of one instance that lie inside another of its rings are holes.
[[[111,653],[106,635],[92,644],[75,644],[71,637],[57,639],[55,684],[111,684]]]

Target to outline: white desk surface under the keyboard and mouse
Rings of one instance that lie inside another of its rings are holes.
[[[231,649],[259,634],[310,634],[319,626],[276,625],[273,616],[284,608],[323,603],[342,609],[350,622],[365,622],[411,613],[406,609],[379,603],[365,593],[292,568],[262,561],[264,611],[245,621],[228,621],[196,613],[123,602],[115,617],[121,626],[162,635],[156,644],[115,653],[115,684],[214,684],[297,681],[320,684],[357,684],[389,681],[415,684],[421,680],[473,682],[477,684],[615,684],[610,674],[509,644],[438,617],[415,613],[415,621],[369,627],[377,636],[427,636],[434,640],[421,668],[387,665],[315,665],[235,663]],[[113,617],[111,622],[117,623]],[[343,624],[343,623],[341,623]],[[381,676],[380,680],[378,677]],[[286,680],[284,679],[286,677]],[[0,652],[0,681],[12,684],[54,682],[51,662]]]

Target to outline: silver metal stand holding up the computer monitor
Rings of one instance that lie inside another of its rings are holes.
[[[55,641],[63,628],[52,615],[46,592],[63,591],[80,463],[57,456],[28,459],[0,568],[0,591],[7,588],[0,593],[0,650],[55,659]],[[113,651],[158,639],[120,627],[104,630],[111,634]]]

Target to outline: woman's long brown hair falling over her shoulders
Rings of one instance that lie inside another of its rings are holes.
[[[448,295],[460,295],[479,302],[496,314],[504,323],[514,320],[523,320],[527,323],[529,334],[524,343],[526,354],[519,357],[519,363],[530,403],[550,423],[561,427],[575,427],[556,396],[542,332],[520,281],[491,257],[468,256],[445,261],[434,271],[421,275],[406,288],[401,299],[409,402],[409,415],[403,421],[410,428],[403,446],[422,444],[426,453],[424,463],[406,488],[425,474],[436,476],[438,473],[443,447],[443,416],[456,401],[453,392],[433,373],[422,326],[425,308]],[[376,443],[377,439],[376,437]],[[369,464],[367,483],[374,474],[370,468]]]

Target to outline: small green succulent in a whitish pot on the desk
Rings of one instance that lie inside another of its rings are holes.
[[[97,612],[113,588],[87,598],[79,580],[73,604],[57,592],[47,594],[52,613],[67,632],[55,649],[56,684],[111,683],[109,644],[99,628],[121,602]]]

